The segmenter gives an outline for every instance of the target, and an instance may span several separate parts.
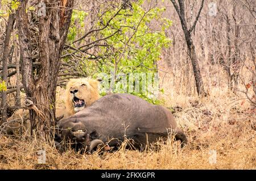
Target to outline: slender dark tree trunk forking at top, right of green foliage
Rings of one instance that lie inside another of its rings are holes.
[[[204,89],[203,79],[201,77],[200,68],[199,68],[199,64],[197,61],[197,57],[196,57],[195,45],[193,44],[192,35],[191,35],[192,32],[195,30],[196,23],[199,19],[201,10],[203,9],[204,0],[201,2],[201,6],[200,6],[199,11],[197,12],[196,19],[194,20],[194,22],[192,23],[192,26],[190,28],[188,28],[188,25],[187,25],[188,23],[185,18],[184,1],[178,0],[179,6],[177,5],[175,0],[171,0],[171,2],[174,5],[174,8],[175,8],[177,14],[179,15],[181,27],[182,27],[182,30],[185,35],[185,41],[187,43],[187,49],[188,49],[188,56],[191,60],[193,74],[195,76],[197,94],[207,96],[208,92]]]

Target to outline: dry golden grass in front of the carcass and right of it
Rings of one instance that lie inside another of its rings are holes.
[[[43,140],[0,136],[0,169],[256,169],[256,113],[250,104],[225,86],[209,84],[210,96],[203,99],[179,94],[183,85],[170,83],[171,75],[165,78],[164,106],[182,108],[174,109],[174,115],[188,137],[185,148],[169,140],[159,151],[122,149],[86,155],[73,150],[59,153]],[[46,164],[38,164],[40,149],[46,150]],[[210,150],[216,151],[216,163],[209,162]]]

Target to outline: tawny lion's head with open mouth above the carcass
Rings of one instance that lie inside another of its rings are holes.
[[[65,91],[65,105],[70,115],[100,99],[98,81],[91,78],[71,79]]]

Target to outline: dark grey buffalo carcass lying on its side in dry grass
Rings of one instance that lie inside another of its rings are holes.
[[[128,138],[136,149],[167,138],[170,131],[181,146],[187,143],[172,113],[130,94],[111,94],[59,123],[61,140],[92,151],[99,144],[118,148]]]

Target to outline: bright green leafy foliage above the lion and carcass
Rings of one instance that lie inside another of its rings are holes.
[[[155,61],[160,60],[162,49],[171,44],[165,31],[167,28],[171,28],[172,20],[162,17],[163,12],[166,11],[165,7],[154,7],[150,11],[144,9],[142,5],[145,1],[131,2],[132,9],[122,9],[121,11],[118,6],[108,11],[100,9],[97,14],[98,21],[94,23],[93,27],[100,31],[91,33],[89,39],[90,42],[104,39],[97,44],[105,46],[94,49],[96,51],[92,52],[96,56],[88,55],[90,60],[83,59],[80,64],[82,71],[92,77],[97,77],[97,74],[100,73],[110,74],[111,71],[116,74],[124,73],[127,76],[129,73],[156,73]],[[118,15],[113,18],[117,11],[119,11]],[[84,19],[87,15],[84,11],[73,10],[67,38],[69,43],[72,44],[76,37],[84,35]],[[111,21],[109,21],[110,19]],[[156,21],[159,22],[158,31],[149,26]],[[109,26],[105,28],[107,23]],[[119,31],[113,35],[117,30]],[[110,37],[105,39],[108,36]],[[101,58],[91,60],[96,57]],[[68,62],[68,59],[64,61]],[[120,80],[117,80],[115,85],[120,88],[114,90],[115,92],[122,92],[122,88],[125,88]],[[141,82],[139,86],[142,87]],[[159,91],[164,92],[163,89]],[[101,94],[105,95],[106,92],[101,92]],[[150,94],[148,92],[139,91],[131,92],[131,94],[140,96],[153,104],[163,103],[163,100],[148,96]]]

